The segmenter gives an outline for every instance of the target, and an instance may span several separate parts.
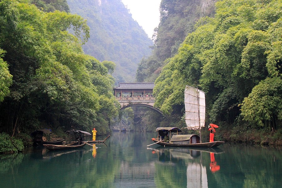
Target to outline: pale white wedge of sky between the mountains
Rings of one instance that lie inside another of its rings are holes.
[[[122,0],[132,14],[132,18],[152,37],[159,25],[159,4],[161,0]]]

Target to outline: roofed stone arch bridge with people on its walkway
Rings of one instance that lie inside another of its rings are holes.
[[[154,107],[153,82],[120,82],[119,86],[113,89],[114,95],[121,105],[121,109],[134,106],[149,107],[163,115],[163,112]]]

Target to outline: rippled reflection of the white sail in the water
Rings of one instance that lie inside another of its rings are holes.
[[[191,163],[187,166],[187,188],[207,188],[206,168],[201,164]]]

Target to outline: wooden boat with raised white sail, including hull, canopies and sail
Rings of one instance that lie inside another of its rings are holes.
[[[158,137],[152,138],[153,142],[163,146],[197,148],[217,147],[224,143],[220,141],[202,143],[201,141],[201,128],[205,126],[205,93],[197,88],[185,86],[184,96],[186,128],[199,130],[200,136],[196,134],[178,135],[182,131],[177,127],[160,127],[156,129]],[[163,140],[167,133],[169,133],[169,142],[164,142]],[[171,133],[177,133],[177,135],[172,135]]]

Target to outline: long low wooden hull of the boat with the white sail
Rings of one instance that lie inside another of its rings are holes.
[[[168,142],[159,142],[159,140],[154,139],[155,143],[161,146],[173,146],[173,147],[195,147],[195,148],[210,148],[210,147],[217,147],[224,142],[216,141],[216,142],[205,142],[205,143],[196,143],[196,144],[171,144]]]

